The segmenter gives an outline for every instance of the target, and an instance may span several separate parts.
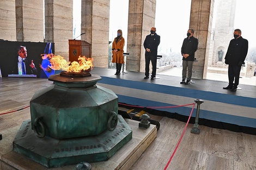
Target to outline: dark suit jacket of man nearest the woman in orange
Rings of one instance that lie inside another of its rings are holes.
[[[145,55],[155,55],[157,57],[157,47],[160,44],[160,36],[157,35],[156,33],[151,36],[151,34],[147,35],[143,46],[144,48],[149,48],[151,52],[145,52]]]

